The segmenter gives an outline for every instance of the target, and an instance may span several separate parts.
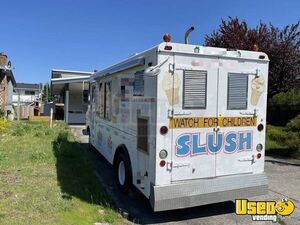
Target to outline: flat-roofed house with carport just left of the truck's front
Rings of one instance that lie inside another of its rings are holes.
[[[54,118],[67,124],[85,124],[91,72],[51,71],[51,93],[55,97]]]

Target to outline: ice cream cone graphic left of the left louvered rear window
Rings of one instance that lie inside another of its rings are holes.
[[[170,105],[176,105],[179,103],[179,88],[180,78],[177,74],[165,74],[162,81],[163,90],[168,98]],[[174,90],[174,91],[173,91]]]

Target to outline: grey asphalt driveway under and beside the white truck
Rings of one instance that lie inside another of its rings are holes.
[[[87,136],[83,135],[83,127],[73,127],[77,141],[87,149]],[[228,225],[228,224],[272,224],[272,222],[252,221],[250,216],[237,216],[233,202],[223,202],[199,206],[189,209],[172,210],[154,213],[148,200],[138,191],[132,190],[128,196],[117,189],[112,179],[111,165],[97,152],[91,152],[96,157],[95,173],[101,183],[112,196],[116,207],[128,217],[129,223],[134,224],[170,224],[170,225]],[[300,160],[287,160],[267,157],[265,171],[269,179],[269,193],[252,198],[251,200],[281,200],[291,199],[296,209],[294,213],[280,218],[280,224],[300,224]]]

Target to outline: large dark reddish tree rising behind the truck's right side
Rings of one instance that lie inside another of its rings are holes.
[[[265,52],[270,59],[269,96],[288,91],[297,85],[300,75],[300,31],[298,21],[279,29],[272,24],[260,22],[250,28],[245,21],[229,17],[218,28],[205,37],[205,45],[227,49],[253,50]],[[297,88],[297,87],[296,87]]]

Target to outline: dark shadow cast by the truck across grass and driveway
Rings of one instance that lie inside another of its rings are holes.
[[[113,205],[136,224],[185,221],[235,211],[233,202],[223,202],[154,213],[148,199],[135,188],[127,196],[119,191],[113,179],[112,166],[99,152],[90,150],[88,144],[69,141],[68,134],[61,133],[53,142],[53,153],[62,198],[77,197],[88,203]]]

